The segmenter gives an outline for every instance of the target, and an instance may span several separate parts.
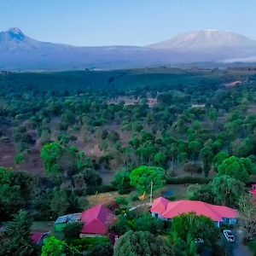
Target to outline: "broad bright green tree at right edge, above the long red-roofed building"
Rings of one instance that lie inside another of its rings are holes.
[[[256,165],[249,158],[231,156],[218,166],[220,175],[235,177],[241,182],[246,182],[250,174],[255,173]]]

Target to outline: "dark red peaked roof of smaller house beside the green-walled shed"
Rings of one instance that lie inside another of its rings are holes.
[[[108,226],[113,224],[115,216],[107,207],[97,205],[82,212],[83,234],[108,234]]]

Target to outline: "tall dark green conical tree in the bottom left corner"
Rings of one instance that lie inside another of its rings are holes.
[[[0,246],[1,256],[35,255],[35,247],[31,240],[32,218],[23,210],[14,215],[3,231]]]

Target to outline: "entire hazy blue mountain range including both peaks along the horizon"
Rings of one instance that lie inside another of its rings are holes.
[[[139,46],[78,47],[40,42],[19,28],[0,32],[0,69],[84,69],[254,60],[256,41],[231,32],[187,32]]]

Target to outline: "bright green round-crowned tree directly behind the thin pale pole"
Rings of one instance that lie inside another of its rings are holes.
[[[153,190],[162,187],[165,181],[165,170],[154,166],[140,166],[131,172],[131,185],[136,187],[140,193],[150,193],[151,182]]]

